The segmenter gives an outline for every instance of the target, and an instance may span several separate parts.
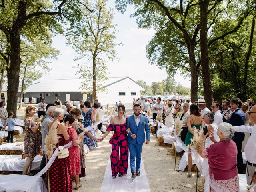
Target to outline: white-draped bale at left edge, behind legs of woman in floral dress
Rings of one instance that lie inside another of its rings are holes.
[[[23,171],[26,159],[22,155],[0,155],[0,171]],[[37,155],[31,164],[30,170],[39,170],[43,156]]]

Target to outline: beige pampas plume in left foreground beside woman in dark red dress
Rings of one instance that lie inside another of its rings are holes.
[[[53,154],[53,149],[56,148],[56,144],[58,142],[58,139],[60,138],[59,136],[57,136],[57,126],[58,121],[55,120],[52,124],[51,129],[49,130],[49,134],[45,136],[44,150],[46,151],[48,159],[51,158]]]

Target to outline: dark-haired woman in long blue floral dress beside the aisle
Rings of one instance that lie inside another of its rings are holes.
[[[89,101],[84,102],[84,107],[82,108],[82,116],[84,117],[84,128],[92,126],[92,119],[94,119],[94,116]],[[96,136],[94,128],[89,130],[89,132],[94,137]],[[88,136],[87,134],[84,134],[84,144],[86,144],[90,150],[92,150],[95,147],[98,147],[97,141],[94,138]]]

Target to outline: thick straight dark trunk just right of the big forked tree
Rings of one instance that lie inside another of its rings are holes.
[[[210,79],[209,60],[208,60],[208,45],[207,45],[207,11],[209,0],[199,0],[200,17],[201,17],[201,30],[200,30],[200,47],[201,47],[201,66],[202,78],[204,87],[204,98],[207,107],[210,108],[212,98],[212,83]]]

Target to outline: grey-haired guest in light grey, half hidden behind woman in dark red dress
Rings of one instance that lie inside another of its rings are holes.
[[[49,135],[49,125],[51,122],[54,121],[53,111],[56,109],[56,106],[49,106],[49,104],[46,106],[46,112],[47,115],[44,116],[44,121],[42,121],[42,148],[41,152],[43,154],[43,158],[40,163],[40,170],[42,170],[46,166],[46,152],[44,151],[44,141],[46,135]],[[46,174],[42,175],[42,178],[45,178]]]

